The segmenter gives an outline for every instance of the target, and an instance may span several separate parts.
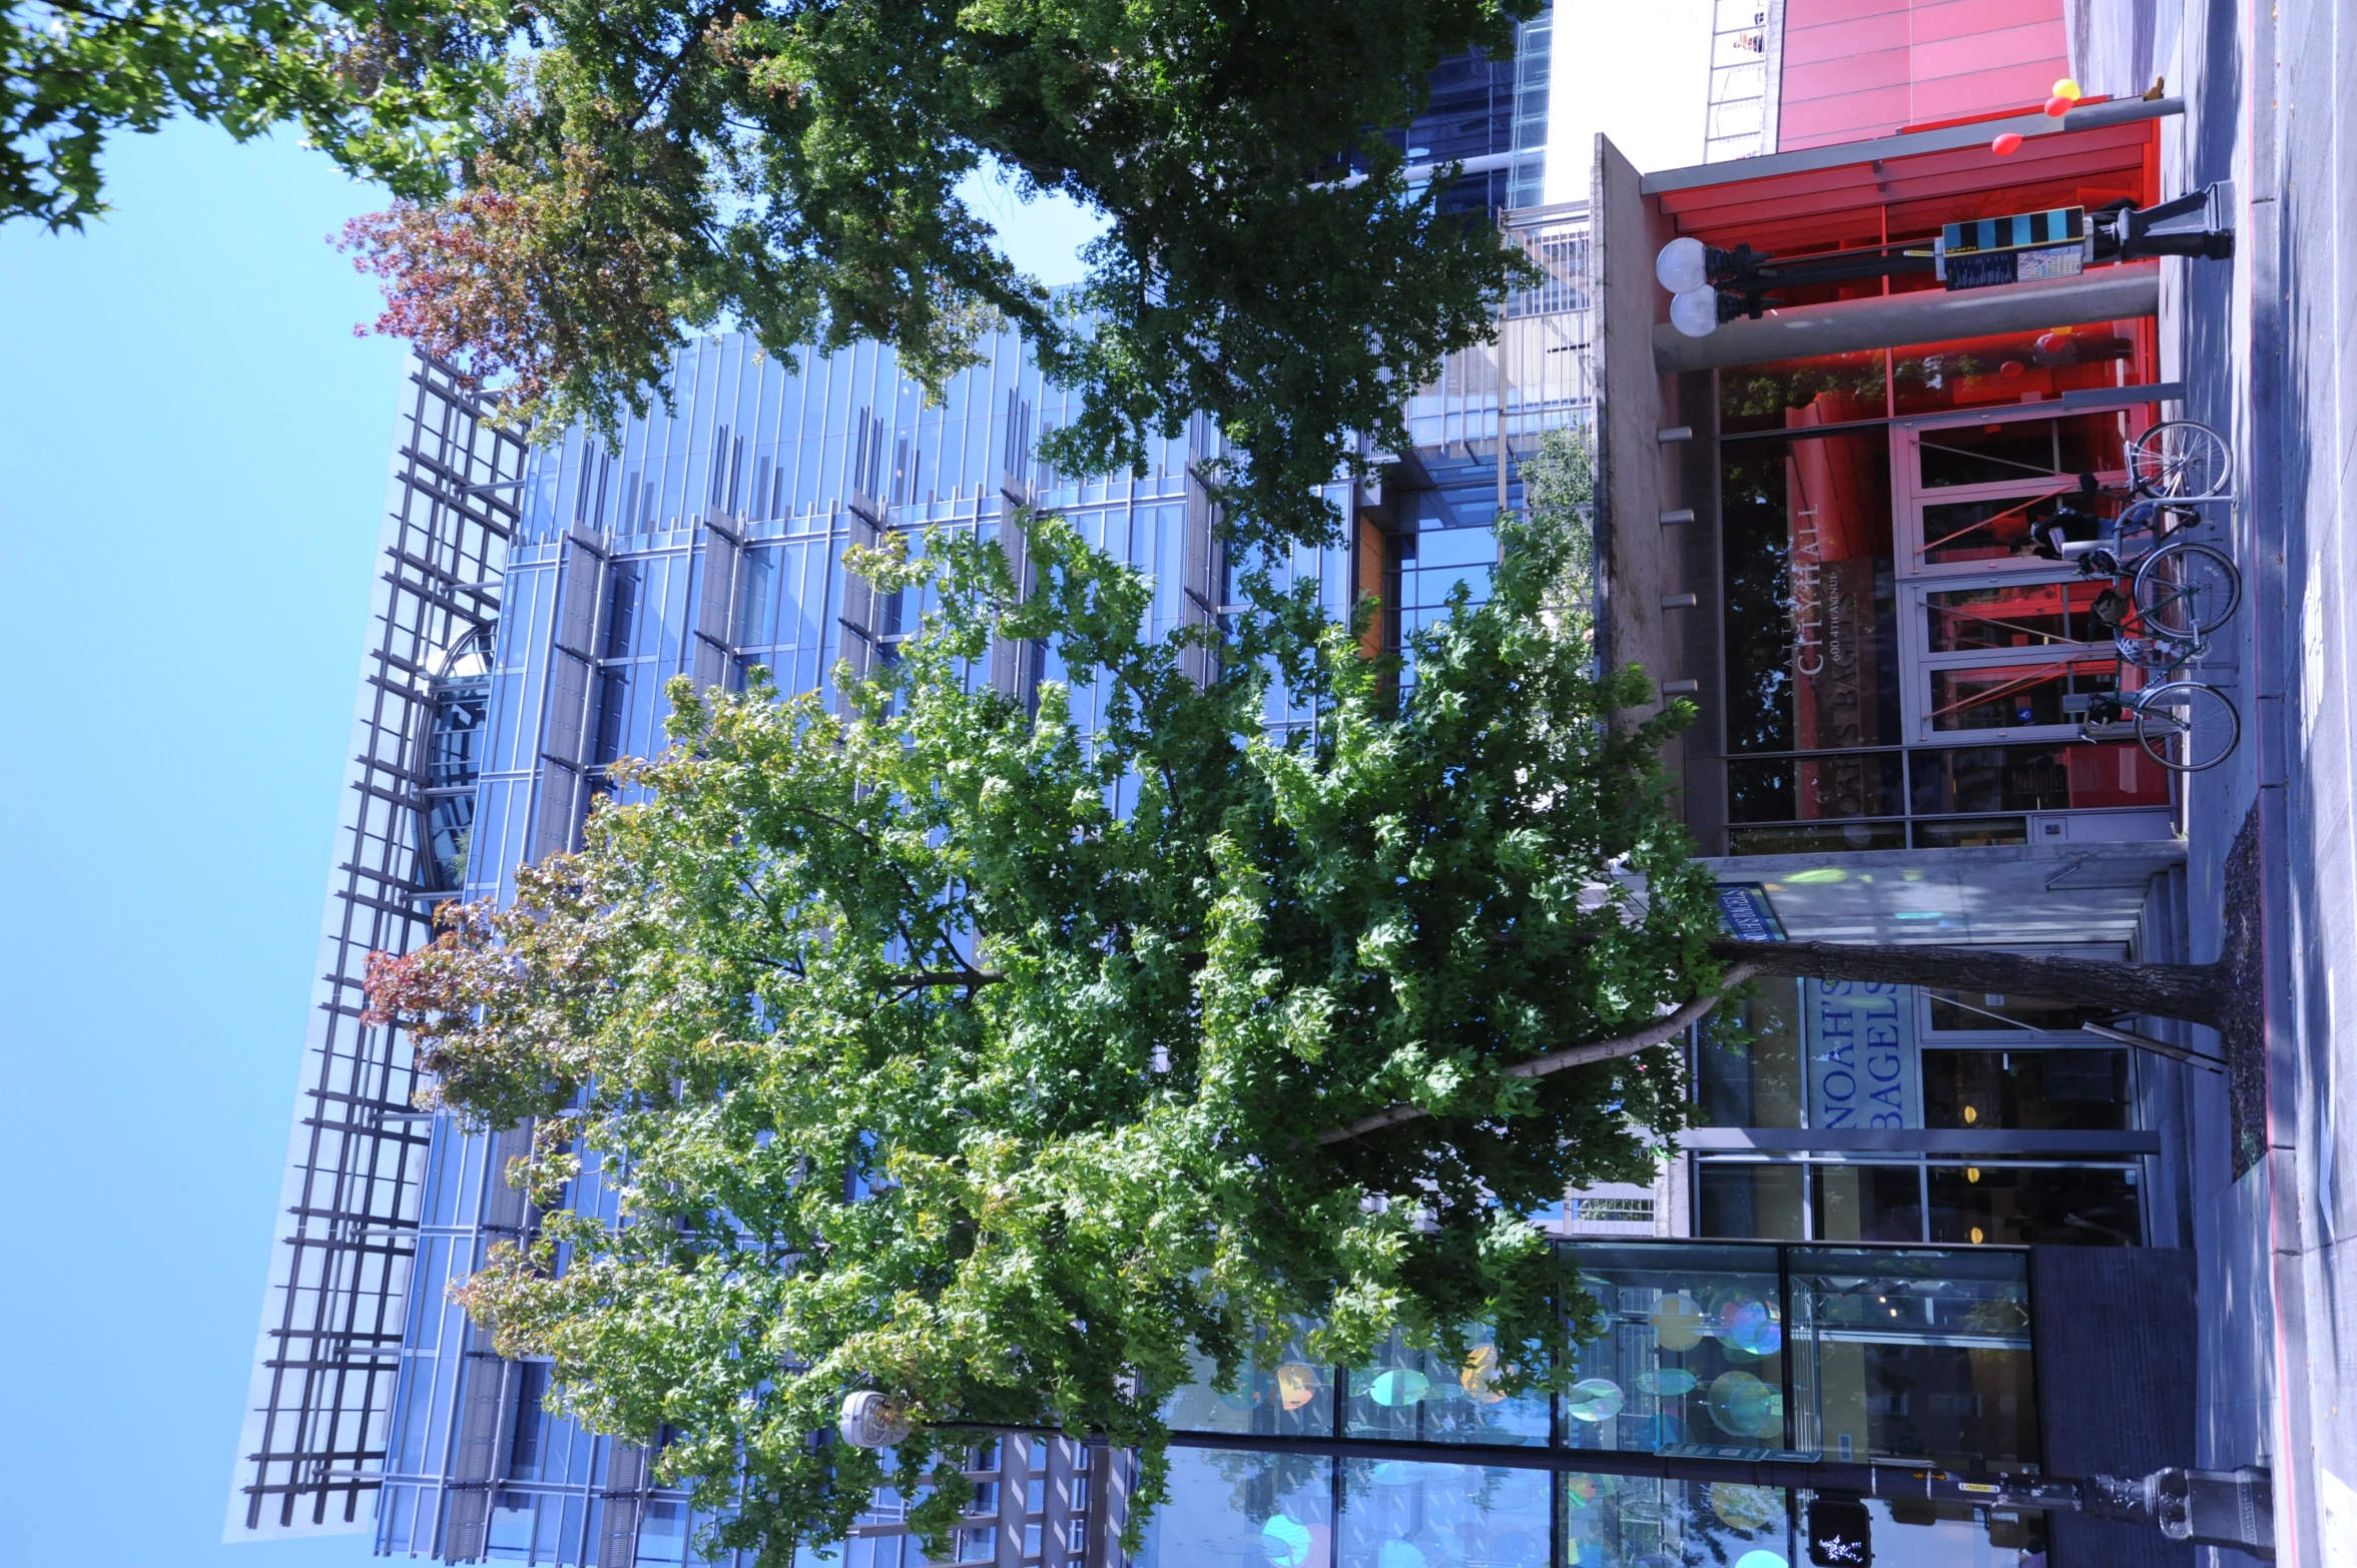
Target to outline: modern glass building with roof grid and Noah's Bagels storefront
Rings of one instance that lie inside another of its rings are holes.
[[[1787,452],[1803,440],[1848,440],[1829,447],[1848,457],[1820,464],[1824,473],[1801,464],[1754,485],[1765,520],[1721,513],[1699,492],[1678,520],[1659,492],[1633,492],[1643,461],[1659,464],[1671,450],[1657,426],[1673,421],[1643,407],[1638,393],[1600,396],[1610,365],[1598,348],[1615,332],[1605,315],[1622,308],[1600,308],[1600,283],[1631,264],[1598,247],[1605,221],[1589,205],[1520,205],[1539,188],[1546,155],[1546,40],[1541,14],[1525,24],[1516,61],[1454,61],[1435,78],[1433,111],[1402,144],[1419,162],[1426,153],[1433,162],[1461,158],[1450,200],[1508,210],[1508,231],[1546,280],[1508,301],[1497,346],[1452,358],[1414,391],[1409,447],[1381,454],[1376,478],[1336,480],[1327,499],[1343,518],[1339,539],[1296,551],[1287,570],[1315,582],[1334,614],[1376,593],[1381,636],[1398,645],[1457,582],[1483,591],[1497,558],[1492,525],[1518,504],[1518,464],[1539,433],[1591,428],[1605,469],[1607,650],[1643,657],[1704,706],[1716,739],[1673,760],[1706,848],[1735,850],[1721,862],[1730,909],[1808,935],[2095,939],[2150,951],[2166,939],[2168,906],[2152,902],[2147,883],[2154,873],[2166,883],[2168,855],[2135,848],[2145,841],[2126,829],[2110,833],[2110,869],[2086,878],[2093,890],[2074,888],[2069,873],[2055,881],[2060,862],[2003,871],[2044,885],[2041,902],[2006,921],[1987,916],[1987,876],[1966,890],[1954,869],[1930,862],[1893,862],[1876,881],[1871,866],[1808,857],[1836,843],[1869,855],[1912,848],[1923,836],[1926,845],[1980,852],[1985,869],[2001,871],[2006,855],[2036,845],[2006,848],[2011,829],[1992,819],[2018,819],[2022,838],[2058,810],[2086,810],[2091,822],[2166,822],[2166,791],[2138,796],[2140,775],[2114,765],[2124,800],[2065,793],[2060,805],[2018,808],[2003,791],[2027,763],[1996,756],[1966,765],[1975,753],[1959,742],[1980,737],[1926,744],[1897,727],[1871,737],[1824,727],[1820,711],[1848,716],[1853,727],[1862,716],[1855,704],[1794,687],[1791,676],[1780,680],[1789,664],[1777,664],[1789,652],[1782,643],[1758,669],[1737,664],[1728,678],[1711,673],[1716,640],[1711,669],[1678,662],[1695,647],[1678,640],[1688,636],[1678,617],[1690,622],[1702,593],[1688,589],[1683,605],[1671,605],[1678,593],[1662,589],[1683,584],[1659,577],[1657,556],[1631,556],[1631,506],[1662,513],[1645,513],[1652,539],[1692,542],[1678,549],[1709,563],[1711,584],[1721,551],[1737,560],[1751,534],[1761,572],[1772,574],[1803,537],[1791,518],[1817,506],[1810,485],[1855,499],[1860,473],[1883,473],[1871,452],[1850,447],[1886,440],[1893,410],[1824,398],[1881,388],[1874,396],[1888,405],[1904,377],[1888,353],[1876,358],[1881,381],[1864,370],[1841,379],[1815,367],[1775,381],[1770,367],[1695,391],[1664,377],[1648,396],[1666,388],[1699,398],[1695,407],[1716,407],[1714,398],[1768,407],[1768,391],[1742,388],[1789,384],[1817,410],[1801,424],[1831,426],[1791,436],[1789,417],[1763,417],[1754,433],[1714,414],[1709,443],[1688,428],[1678,452],[1709,450],[1711,461],[1739,466],[1756,450],[1789,464]],[[1607,200],[1622,195],[1610,158],[1598,188]],[[1650,285],[1650,252],[1640,266]],[[1622,287],[1615,299],[1636,292]],[[2133,356],[2133,332],[2128,339]],[[2133,403],[2119,365],[2140,360],[2100,365],[2112,370],[2074,370],[2084,384],[2069,391],[2098,391],[2091,412],[2119,419]],[[1966,374],[1959,360],[1954,396]],[[613,450],[570,433],[526,452],[495,410],[464,398],[443,372],[412,372],[361,685],[349,850],[330,892],[321,1010],[231,1537],[356,1530],[382,1554],[438,1561],[698,1561],[698,1521],[686,1497],[653,1483],[651,1455],[549,1415],[547,1366],[500,1358],[448,1302],[450,1281],[540,1220],[502,1180],[530,1128],[467,1137],[410,1109],[403,1043],[358,1026],[365,954],[415,946],[434,902],[509,897],[516,866],[573,848],[608,789],[608,768],[662,746],[667,680],[738,687],[747,669],[766,666],[783,690],[825,690],[839,662],[863,671],[889,659],[922,605],[879,596],[846,572],[851,544],[922,527],[997,537],[1011,509],[1042,506],[1155,577],[1157,629],[1216,622],[1230,600],[1228,560],[1197,478],[1221,454],[1219,433],[1195,421],[1155,443],[1143,476],[1058,473],[1037,459],[1037,443],[1070,419],[1072,398],[1039,377],[1018,337],[990,341],[985,363],[933,407],[872,344],[778,363],[740,337],[705,339],[676,358],[672,393],[672,414],[629,421]],[[1636,447],[1615,417],[1640,431]],[[2036,407],[1992,414],[1959,405],[1959,419],[1999,431],[1982,445],[1961,443],[1959,461],[2022,461],[2027,447],[2013,438],[2029,421],[2060,428],[2053,410]],[[1876,433],[1860,436],[1862,424]],[[2048,445],[2062,440],[2053,428]],[[1756,445],[1744,447],[1747,438]],[[1728,494],[1737,494],[1732,483]],[[1820,527],[1810,549],[1848,560],[1824,539],[1871,532],[1860,530]],[[1730,582],[1737,577],[1730,567]],[[1897,596],[1895,582],[1888,560],[1860,572],[1867,603]],[[1926,591],[1945,582],[1933,577]],[[1970,586],[1980,589],[1980,577]],[[1763,622],[1789,619],[1772,584],[1761,591],[1768,598],[1725,619],[1730,645]],[[1996,591],[2022,593],[2011,577]],[[1855,643],[1867,622],[1827,619],[1860,614],[1860,596],[1843,603],[1853,610],[1810,614],[1829,626],[1824,636]],[[2008,614],[2029,612],[2006,603]],[[1874,626],[1897,624],[1895,612],[1876,614]],[[2041,650],[2006,657],[2067,664]],[[1949,664],[1970,662],[1940,669]],[[1009,692],[1056,673],[1049,650],[1006,645],[990,655],[990,678]],[[1879,676],[1874,702],[1916,716],[1886,697],[1895,680]],[[1721,720],[1737,697],[1751,704],[1742,709],[1751,730]],[[1301,725],[1315,713],[1277,697],[1266,720]],[[1772,744],[1742,744],[1754,730]],[[2029,739],[2051,746],[2051,737]],[[2062,782],[2048,784],[2079,789],[2086,770],[2069,758],[2055,768]],[[1890,770],[1900,784],[1883,777]],[[1945,779],[1947,793],[1916,786],[1919,770]],[[2095,772],[2088,779],[2088,789],[2100,782]],[[1956,838],[1959,819],[1978,826]],[[1780,852],[1803,859],[1784,864]],[[1926,909],[1930,916],[1916,921]],[[1549,1215],[1610,1318],[1605,1337],[1586,1347],[1572,1394],[1501,1398],[1480,1351],[1442,1366],[1395,1347],[1374,1366],[1329,1368],[1270,1347],[1235,1394],[1204,1382],[1174,1401],[1174,1495],[1136,1563],[1789,1568],[1805,1556],[1813,1497],[1728,1479],[1728,1455],[1959,1471],[2133,1469],[2138,1457],[2119,1439],[2133,1389],[2107,1391],[2133,1377],[2107,1368],[2145,1368],[2152,1356],[2135,1349],[2133,1333],[2091,1333],[2067,1304],[2121,1290],[2164,1307],[2173,1300],[2166,1274],[2154,1276],[2145,1260],[2164,1262],[2147,1243],[2173,1241],[2183,1222],[2168,1142],[2180,1085],[2145,1057],[2079,1034],[2081,1022],[2032,998],[1763,986],[1747,1029],[1692,1041],[1697,1125],[1662,1180],[1567,1194]],[[610,1194],[592,1170],[575,1201],[596,1205]],[[2171,1354],[2176,1342],[2154,1335],[2147,1349]],[[2060,1387],[2074,1398],[2055,1401]],[[971,1455],[971,1474],[978,1500],[957,1561],[1122,1561],[1115,1537],[1131,1486],[1127,1455],[1009,1434]],[[2074,1544],[2069,1528],[2048,1530],[2003,1509],[1871,1502],[1869,1511],[1879,1528],[1900,1533],[1888,1544],[1907,1547],[1900,1561],[1909,1563],[2027,1568],[2036,1552],[2053,1552],[2062,1568],[2140,1561],[2105,1556],[2100,1540]],[[903,1500],[879,1493],[832,1561],[917,1568],[903,1514]]]

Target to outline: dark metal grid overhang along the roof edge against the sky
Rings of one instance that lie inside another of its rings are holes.
[[[429,1130],[408,1043],[361,1024],[361,984],[455,885],[523,461],[445,365],[410,363],[226,1540],[370,1528]]]

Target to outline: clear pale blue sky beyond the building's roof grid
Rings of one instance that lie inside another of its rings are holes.
[[[292,139],[127,137],[0,228],[0,1519],[12,1563],[224,1547],[401,348]],[[978,193],[1016,261],[1089,224]]]

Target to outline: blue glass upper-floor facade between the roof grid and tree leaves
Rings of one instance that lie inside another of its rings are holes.
[[[1525,52],[1516,71],[1537,71],[1544,87],[1544,47]],[[1336,542],[1280,563],[1280,584],[1315,582],[1329,614],[1351,614],[1365,593],[1393,598],[1386,589],[1395,591],[1402,570],[1419,586],[1419,612],[1428,610],[1421,598],[1438,603],[1459,577],[1485,593],[1499,504],[1518,501],[1518,459],[1544,428],[1586,417],[1584,217],[1549,210],[1511,233],[1546,280],[1508,301],[1504,341],[1457,356],[1417,388],[1409,417],[1419,443],[1393,454],[1381,483],[1336,480],[1327,490],[1343,520]],[[1556,351],[1565,346],[1572,351]],[[481,612],[436,622],[431,650],[401,655],[415,704],[375,744],[398,758],[382,796],[405,824],[389,855],[401,878],[394,902],[415,925],[401,928],[408,935],[365,928],[342,961],[354,984],[365,951],[401,951],[424,932],[434,902],[509,897],[519,864],[575,848],[610,763],[662,746],[667,680],[742,687],[759,666],[780,690],[825,692],[839,664],[867,671],[891,659],[926,605],[917,593],[879,596],[849,574],[851,544],[926,527],[995,539],[1016,506],[1054,509],[1153,574],[1155,631],[1223,614],[1230,567],[1195,478],[1221,454],[1216,431],[1197,419],[1157,440],[1143,473],[1058,473],[1035,452],[1072,417],[1070,393],[1042,379],[1021,339],[985,348],[983,365],[926,405],[874,344],[778,363],[738,337],[705,339],[676,360],[674,412],[625,424],[610,450],[573,431],[526,454],[502,436],[509,445],[497,471],[427,476],[441,487],[434,494],[469,504],[469,516],[502,520],[500,551],[478,572],[481,586],[462,589],[471,598],[431,579],[441,600],[478,603]],[[417,614],[401,619],[412,622]],[[1025,692],[1063,673],[1054,650],[1002,645],[976,678]],[[1087,697],[1082,687],[1082,704]],[[1084,706],[1080,718],[1089,718]],[[1263,718],[1273,727],[1315,723],[1285,692]],[[356,1015],[358,996],[344,1005]],[[288,1479],[288,1497],[313,1507],[321,1476],[332,1476],[344,1528],[372,1526],[384,1554],[695,1561],[693,1542],[709,1521],[653,1483],[651,1455],[542,1410],[547,1368],[502,1361],[448,1302],[448,1285],[493,1243],[537,1222],[502,1180],[530,1128],[464,1137],[408,1111],[408,1090],[403,1076],[384,1095],[401,1109],[379,1111],[408,1158],[405,1187],[387,1201],[387,1224],[401,1227],[401,1274],[379,1293],[377,1340],[349,1354],[375,1375],[375,1443],[346,1443],[332,1471],[323,1460],[304,1471],[309,1481]],[[573,1201],[610,1203],[594,1161]],[[1464,1389],[1454,1370],[1405,1351],[1395,1358],[1339,1394],[1351,1431],[1546,1441],[1544,1406],[1532,1413],[1473,1394],[1454,1406],[1405,1398],[1417,1380]],[[1384,1382],[1384,1370],[1395,1377]],[[978,1453],[973,1474],[985,1502],[957,1540],[959,1561],[1108,1563],[1124,1474],[1101,1450],[1009,1441]],[[1414,1509],[1419,1519],[1428,1511],[1424,1502]],[[1365,1552],[1376,1561],[1381,1542]],[[912,1568],[917,1549],[900,1504],[877,1497],[860,1530],[813,1561]]]

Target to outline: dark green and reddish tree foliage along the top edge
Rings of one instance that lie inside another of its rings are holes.
[[[1520,261],[1409,186],[1431,71],[1539,0],[14,0],[0,217],[99,210],[111,129],[295,120],[396,202],[346,231],[379,327],[526,421],[613,431],[686,334],[893,346],[940,388],[1023,330],[1082,414],[1047,457],[1138,461],[1214,417],[1242,530],[1306,539],[1402,386],[1487,337]],[[1384,132],[1391,134],[1384,134]],[[1051,297],[969,174],[1103,212]]]

